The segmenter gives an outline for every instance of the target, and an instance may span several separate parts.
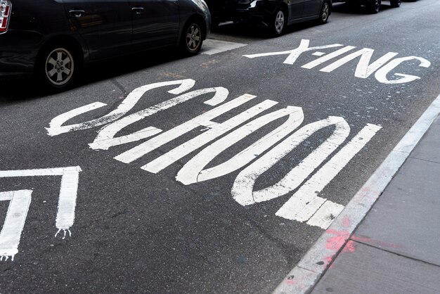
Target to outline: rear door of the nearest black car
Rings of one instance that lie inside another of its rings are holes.
[[[64,8],[71,30],[82,36],[92,60],[130,52],[128,0],[64,0]]]

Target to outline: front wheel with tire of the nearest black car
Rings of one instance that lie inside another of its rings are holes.
[[[202,23],[197,19],[191,19],[183,27],[180,48],[185,56],[194,56],[199,53],[203,44]]]

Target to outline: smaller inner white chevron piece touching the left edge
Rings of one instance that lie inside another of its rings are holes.
[[[0,201],[9,203],[6,219],[0,232],[0,261],[8,260],[18,253],[21,232],[25,226],[31,200],[31,190],[0,192]]]

